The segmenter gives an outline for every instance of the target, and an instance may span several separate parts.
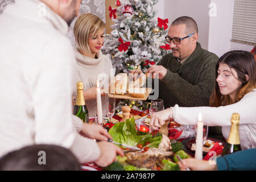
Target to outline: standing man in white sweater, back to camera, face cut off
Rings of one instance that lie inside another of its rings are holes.
[[[76,61],[66,34],[80,3],[16,0],[0,15],[0,157],[31,144],[63,146],[81,163],[99,166],[123,155],[112,143],[77,133],[82,123],[71,100]]]

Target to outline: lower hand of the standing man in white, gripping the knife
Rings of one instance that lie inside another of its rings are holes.
[[[95,161],[98,166],[106,167],[117,160],[117,154],[125,156],[121,148],[110,142],[98,142],[101,154],[100,158]]]

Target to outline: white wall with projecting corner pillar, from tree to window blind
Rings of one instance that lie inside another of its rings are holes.
[[[209,4],[215,3],[216,15],[209,16]],[[230,42],[232,39],[234,0],[159,0],[156,18],[169,19],[169,26],[179,16],[191,16],[199,26],[199,42],[219,57],[234,49],[251,51],[254,46]]]

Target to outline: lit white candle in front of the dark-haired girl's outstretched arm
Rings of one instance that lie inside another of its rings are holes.
[[[196,130],[196,154],[195,158],[203,159],[203,129],[204,123],[202,122],[202,114],[198,114],[197,130]]]

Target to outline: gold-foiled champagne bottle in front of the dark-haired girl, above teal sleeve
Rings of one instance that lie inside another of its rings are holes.
[[[232,154],[241,150],[240,139],[239,139],[239,123],[240,115],[233,113],[231,118],[231,128],[229,138],[226,141],[222,155]]]

